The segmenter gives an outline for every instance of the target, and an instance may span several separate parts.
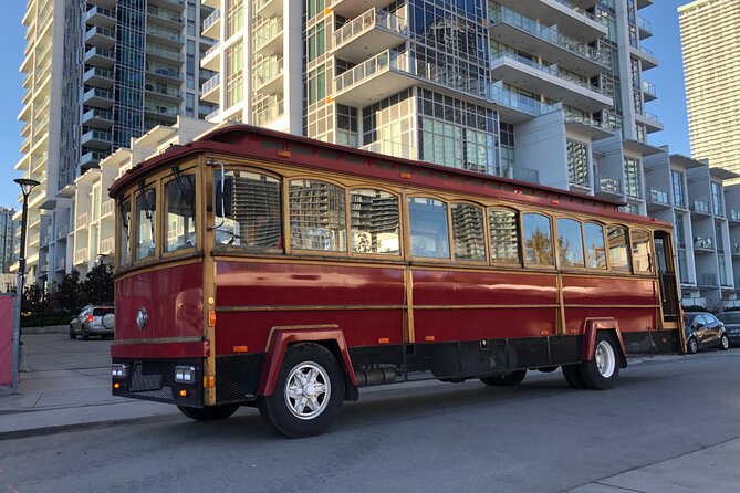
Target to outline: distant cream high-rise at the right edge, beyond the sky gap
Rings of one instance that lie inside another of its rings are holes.
[[[740,0],[678,9],[691,156],[740,172]]]

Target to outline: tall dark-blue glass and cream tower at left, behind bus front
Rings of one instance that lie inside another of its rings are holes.
[[[28,0],[23,158],[40,187],[29,203],[29,280],[73,264],[74,180],[115,149],[179,114],[205,117],[199,67],[212,40],[198,0]]]

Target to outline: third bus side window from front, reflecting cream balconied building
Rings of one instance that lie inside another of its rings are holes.
[[[400,254],[398,197],[371,188],[352,190],[350,221],[354,253]]]

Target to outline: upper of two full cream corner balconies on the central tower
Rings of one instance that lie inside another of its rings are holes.
[[[369,9],[334,32],[334,54],[359,63],[400,44],[408,34],[405,19],[385,10]]]

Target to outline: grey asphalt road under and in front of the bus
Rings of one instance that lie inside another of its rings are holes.
[[[0,491],[562,492],[739,438],[738,381],[740,349],[711,350],[633,361],[607,391],[560,371],[374,388],[302,440],[249,408],[8,440]]]

